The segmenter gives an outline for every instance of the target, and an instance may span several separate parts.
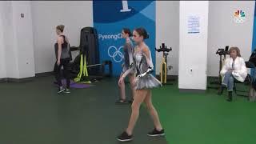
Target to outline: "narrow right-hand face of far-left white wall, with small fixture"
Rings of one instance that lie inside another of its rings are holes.
[[[18,78],[34,77],[34,40],[32,32],[31,4],[12,2],[14,40],[18,51]],[[24,14],[24,18],[21,17]]]

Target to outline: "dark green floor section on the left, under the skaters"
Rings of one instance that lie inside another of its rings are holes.
[[[115,138],[127,126],[130,105],[115,105],[115,78],[61,95],[53,79],[0,83],[0,144],[120,143]],[[130,143],[166,144],[166,138],[146,136],[152,128],[150,116],[142,110]]]

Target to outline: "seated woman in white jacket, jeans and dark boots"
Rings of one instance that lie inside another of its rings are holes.
[[[229,50],[230,58],[226,58],[222,70],[220,72],[222,76],[222,86],[218,91],[218,94],[223,93],[223,89],[227,88],[228,102],[232,101],[234,79],[239,82],[244,82],[247,76],[246,62],[241,57],[238,47],[231,47]]]

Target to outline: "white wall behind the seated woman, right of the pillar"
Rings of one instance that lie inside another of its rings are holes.
[[[244,10],[246,22],[237,24],[233,21],[236,10]],[[210,1],[208,76],[218,75],[218,48],[238,46],[242,57],[248,60],[251,54],[254,22],[254,1]]]

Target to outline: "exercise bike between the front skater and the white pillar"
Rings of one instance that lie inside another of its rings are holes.
[[[161,83],[162,84],[166,84],[166,85],[172,85],[172,83],[167,83],[167,55],[168,52],[170,52],[172,49],[170,47],[170,49],[167,48],[167,46],[165,45],[165,43],[162,43],[162,47],[160,46],[159,49],[156,49],[156,51],[161,52],[162,51],[162,62],[160,65],[160,79],[161,79]],[[172,66],[168,66],[168,69],[171,69]]]

